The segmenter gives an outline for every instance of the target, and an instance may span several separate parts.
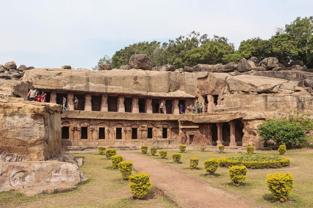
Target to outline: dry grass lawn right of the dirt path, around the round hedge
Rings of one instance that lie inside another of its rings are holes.
[[[227,150],[225,150],[227,151]],[[173,162],[172,154],[181,153],[181,163]],[[257,153],[277,154],[278,151],[257,151]],[[138,153],[141,154],[141,153]],[[142,154],[141,154],[142,155]],[[303,148],[296,150],[287,150],[283,157],[290,159],[290,167],[271,168],[271,169],[248,169],[247,179],[241,182],[239,187],[233,185],[229,180],[228,168],[218,167],[214,176],[208,175],[204,169],[203,162],[211,157],[232,157],[237,156],[239,153],[219,153],[210,151],[187,151],[177,152],[168,151],[167,158],[161,159],[157,152],[152,156],[150,152],[143,155],[143,157],[155,158],[161,162],[165,162],[177,169],[181,169],[195,177],[201,178],[217,186],[223,187],[228,191],[233,191],[241,196],[245,196],[254,201],[266,204],[272,207],[313,207],[313,149]],[[198,157],[198,169],[190,169],[189,161],[191,157]],[[268,190],[265,182],[265,177],[269,173],[275,172],[289,172],[294,175],[294,189],[290,196],[288,204],[275,203],[274,197]]]

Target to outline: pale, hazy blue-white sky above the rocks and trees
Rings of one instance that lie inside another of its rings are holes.
[[[276,27],[313,15],[312,0],[0,0],[0,64],[94,67],[140,41],[165,42],[191,31],[234,43],[268,39]]]

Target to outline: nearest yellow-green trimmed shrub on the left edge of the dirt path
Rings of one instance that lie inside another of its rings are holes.
[[[141,172],[131,175],[128,178],[128,185],[131,187],[131,193],[135,197],[141,199],[149,192],[149,189],[152,186],[149,176],[148,173]]]

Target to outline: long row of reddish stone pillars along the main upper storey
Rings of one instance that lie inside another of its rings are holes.
[[[50,103],[56,103],[57,97],[56,93],[51,93],[50,96]],[[125,105],[124,105],[124,98],[125,96],[119,95],[118,96],[118,104],[117,104],[117,112],[125,112]],[[138,104],[138,96],[133,96],[132,97],[132,104],[131,104],[131,112],[132,113],[139,113],[139,104]],[[74,93],[69,92],[67,93],[67,109],[68,110],[74,110]],[[100,111],[103,112],[108,112],[108,95],[107,94],[102,94],[102,99],[101,99],[101,107]],[[166,114],[166,99],[163,98],[161,99],[163,102],[163,111],[164,114]],[[172,112],[168,112],[169,114],[179,114],[179,107],[178,107],[179,100],[178,99],[173,99],[172,100],[172,106],[174,109],[172,109]],[[147,97],[146,98],[146,113],[147,114],[152,114],[152,98]],[[85,94],[85,106],[84,106],[85,111],[91,111],[91,93],[86,93]]]

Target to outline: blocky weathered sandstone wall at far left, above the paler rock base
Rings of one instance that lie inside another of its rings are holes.
[[[0,98],[0,162],[47,160],[61,149],[61,106]]]

